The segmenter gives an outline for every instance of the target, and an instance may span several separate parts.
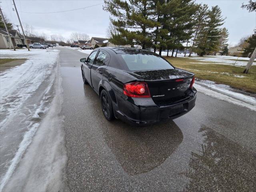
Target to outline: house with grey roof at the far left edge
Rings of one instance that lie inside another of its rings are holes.
[[[18,44],[25,44],[24,38],[18,30],[9,30],[12,44],[17,47]],[[10,39],[6,29],[0,28],[0,48],[10,48]]]

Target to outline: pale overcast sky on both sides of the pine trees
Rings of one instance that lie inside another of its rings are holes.
[[[12,10],[12,0],[0,0],[2,11],[14,24],[18,24]],[[62,34],[69,38],[71,32],[83,32],[89,36],[106,37],[110,14],[102,10],[103,0],[15,0],[22,23],[32,25],[40,34]],[[197,3],[218,5],[226,17],[224,27],[229,31],[229,43],[236,44],[242,36],[250,35],[256,28],[256,13],[241,7],[248,0],[196,0]],[[97,5],[98,4],[98,5]],[[93,6],[96,5],[96,6]],[[92,6],[69,12],[58,12]],[[25,13],[25,12],[37,12]],[[48,13],[45,12],[58,12]]]

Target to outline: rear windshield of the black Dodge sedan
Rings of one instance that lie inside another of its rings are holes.
[[[154,54],[121,54],[121,57],[131,71],[174,69],[170,63]]]

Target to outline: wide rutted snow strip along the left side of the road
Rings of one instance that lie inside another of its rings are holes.
[[[0,191],[34,191],[35,185],[46,191],[50,180],[60,180],[57,172],[66,159],[63,152],[62,162],[54,158],[64,140],[58,127],[62,120],[58,116],[62,102],[58,54],[56,49],[0,50],[1,58],[28,59],[0,73]]]

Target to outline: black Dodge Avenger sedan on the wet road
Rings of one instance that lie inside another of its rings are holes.
[[[151,124],[182,116],[195,106],[194,74],[153,52],[104,47],[80,61],[84,84],[100,95],[107,120]]]

